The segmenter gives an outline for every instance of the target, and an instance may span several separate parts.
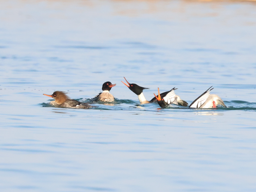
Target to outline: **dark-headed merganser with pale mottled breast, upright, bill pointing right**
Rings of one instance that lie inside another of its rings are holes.
[[[115,100],[114,96],[110,94],[110,90],[112,87],[116,86],[116,84],[111,84],[111,82],[107,81],[102,85],[102,93],[99,93],[92,100],[94,102],[103,101],[103,102],[113,102]]]

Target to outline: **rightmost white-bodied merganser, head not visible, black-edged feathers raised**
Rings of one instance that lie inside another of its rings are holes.
[[[226,105],[219,96],[213,94],[210,95],[210,91],[214,89],[211,89],[212,87],[195,99],[195,101],[189,105],[189,108],[216,108],[217,105],[222,105],[226,108]]]

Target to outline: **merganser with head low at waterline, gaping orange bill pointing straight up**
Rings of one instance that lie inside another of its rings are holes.
[[[171,103],[178,105],[177,97],[175,95],[174,90],[177,90],[177,89],[175,89],[175,87],[172,88],[170,91],[168,91],[166,96],[161,98],[159,88],[158,88],[158,97],[155,94],[154,94],[154,96],[156,97],[158,105],[160,107],[165,108],[166,106],[170,105]]]

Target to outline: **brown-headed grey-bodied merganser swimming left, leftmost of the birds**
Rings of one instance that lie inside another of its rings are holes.
[[[88,105],[84,102],[79,102],[73,99],[70,99],[65,92],[63,91],[55,91],[52,95],[46,95],[55,99],[55,101],[51,101],[49,104],[55,105],[58,107],[65,107],[65,108],[92,108],[93,106]]]

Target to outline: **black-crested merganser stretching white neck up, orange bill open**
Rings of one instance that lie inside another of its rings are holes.
[[[126,78],[123,77],[125,80]],[[121,81],[122,82],[122,81]],[[145,104],[145,103],[150,103],[150,102],[157,102],[157,99],[154,97],[152,98],[150,101],[147,101],[145,96],[143,95],[143,90],[145,89],[149,89],[149,88],[145,88],[145,87],[140,87],[139,85],[137,84],[130,84],[127,80],[126,80],[127,84],[125,84],[131,91],[133,91],[139,98],[140,100],[140,104]],[[160,96],[162,98],[164,98],[170,91],[166,91],[164,93],[161,93]],[[179,96],[175,96],[176,97],[176,100],[177,100],[177,103],[178,105],[182,105],[184,107],[187,107],[188,106],[188,103],[183,101]]]

